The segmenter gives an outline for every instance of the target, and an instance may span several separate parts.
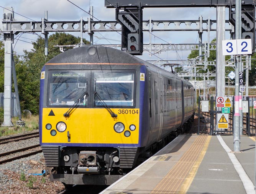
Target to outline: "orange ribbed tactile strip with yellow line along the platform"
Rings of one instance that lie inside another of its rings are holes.
[[[196,172],[194,171],[193,173],[191,170],[197,170],[199,167],[204,156],[202,152],[203,150],[206,152],[209,142],[210,136],[198,136],[176,165],[174,165],[153,191],[151,191],[151,194],[175,194],[177,192],[186,192],[185,189],[189,188],[191,184],[190,182],[192,182],[190,179],[194,178]],[[207,144],[206,148],[205,144]],[[200,157],[202,158],[199,160],[198,158]],[[197,165],[195,165],[195,163],[197,163]],[[194,176],[191,176],[190,173]],[[187,179],[188,176],[190,176],[190,179]]]

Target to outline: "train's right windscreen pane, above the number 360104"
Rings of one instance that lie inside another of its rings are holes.
[[[101,71],[94,74],[95,92],[108,106],[133,106],[134,73]],[[103,103],[95,96],[94,105]]]

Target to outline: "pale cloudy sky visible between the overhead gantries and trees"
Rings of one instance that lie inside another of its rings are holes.
[[[104,0],[70,0],[75,5],[79,6],[83,10],[89,12],[89,7],[93,6],[93,15],[98,20],[102,21],[115,21],[115,9],[106,8],[104,6]],[[0,15],[3,16],[2,7],[12,7],[15,11],[14,18],[16,21],[41,21],[44,18],[44,11],[48,11],[48,21],[80,21],[82,17],[87,20],[90,17],[85,11],[82,11],[77,6],[73,5],[67,0],[0,0]],[[143,9],[143,21],[149,20],[151,16],[152,20],[198,20],[202,15],[206,20],[216,19],[216,8],[144,8]],[[228,11],[226,11],[228,15]],[[28,19],[29,18],[29,19]],[[94,20],[97,20],[94,19]],[[228,19],[228,16],[226,16]],[[2,20],[0,20],[0,29],[2,29]],[[50,33],[51,34],[51,33]],[[80,36],[79,33],[73,33],[74,36]],[[35,41],[38,34],[23,34],[19,40],[15,39],[13,48],[18,55],[23,55],[23,50],[33,49],[31,41]],[[83,34],[83,37],[90,40],[87,33]],[[216,37],[216,32],[210,33],[210,40]],[[3,37],[0,37],[3,39]],[[162,39],[162,40],[161,40]],[[22,41],[23,40],[23,41]],[[26,42],[24,42],[26,41]],[[198,32],[192,31],[173,31],[173,32],[153,32],[152,43],[156,44],[198,44]],[[207,32],[203,33],[203,42],[207,41]],[[144,44],[149,43],[149,32],[143,33]],[[117,32],[95,32],[94,44],[121,44],[121,36]],[[148,52],[143,52],[142,56],[139,56],[143,60],[158,60],[160,57],[163,60],[177,60],[177,58],[185,59],[190,51],[165,51],[160,55],[155,54],[149,57]]]

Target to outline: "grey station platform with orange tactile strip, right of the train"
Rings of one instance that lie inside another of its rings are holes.
[[[255,194],[255,138],[179,135],[100,194]]]

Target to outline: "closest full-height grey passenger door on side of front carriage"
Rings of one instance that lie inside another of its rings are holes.
[[[163,86],[164,82],[162,79],[162,75],[158,71],[158,112],[159,112],[159,134],[158,139],[160,139],[162,134],[162,126],[163,126]]]

